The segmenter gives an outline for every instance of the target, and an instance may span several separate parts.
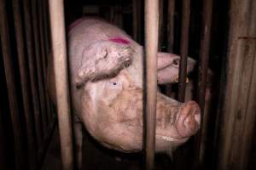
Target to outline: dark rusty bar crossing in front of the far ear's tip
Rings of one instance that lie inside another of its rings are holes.
[[[178,100],[184,102],[186,88],[186,72],[189,48],[190,0],[182,1],[182,31],[180,41],[180,65],[178,72]]]

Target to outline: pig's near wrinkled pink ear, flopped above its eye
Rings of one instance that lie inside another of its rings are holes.
[[[110,41],[96,42],[84,48],[75,80],[77,88],[87,81],[115,77],[119,71],[131,65],[133,54],[130,45]]]

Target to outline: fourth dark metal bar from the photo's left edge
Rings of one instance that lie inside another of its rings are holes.
[[[42,68],[42,58],[43,56],[40,54],[40,46],[42,45],[40,43],[39,38],[39,26],[38,26],[38,14],[37,14],[37,5],[36,1],[31,0],[31,7],[32,7],[32,28],[34,33],[34,47],[35,47],[35,58],[36,58],[36,65],[37,65],[37,74],[38,74],[38,92],[39,92],[39,99],[40,99],[40,111],[41,111],[41,122],[43,126],[43,137],[45,136],[45,133],[47,133],[47,124],[45,121],[45,111],[46,111],[46,105],[45,105],[45,96],[44,96],[44,72]]]

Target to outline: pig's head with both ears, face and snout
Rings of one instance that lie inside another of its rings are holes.
[[[75,77],[80,92],[79,116],[101,144],[132,152],[143,148],[143,48],[117,40],[96,42],[84,49]],[[159,53],[158,81],[174,81],[178,63],[177,55]],[[191,65],[188,71],[194,61]],[[182,104],[158,93],[156,150],[169,151],[183,144],[197,132],[200,118],[194,101]]]

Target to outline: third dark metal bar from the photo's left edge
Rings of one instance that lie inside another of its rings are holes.
[[[37,144],[40,146],[43,142],[42,135],[42,125],[40,120],[40,107],[39,107],[39,99],[38,99],[38,85],[37,85],[37,74],[36,74],[36,65],[34,60],[34,48],[32,41],[32,26],[31,26],[31,14],[30,14],[30,4],[29,0],[23,1],[23,13],[24,13],[24,22],[25,22],[25,36],[26,36],[26,53],[27,53],[27,61],[28,61],[28,70],[29,77],[31,82],[31,92],[32,92],[32,106],[34,113],[34,121],[36,127],[36,136],[37,136]]]

